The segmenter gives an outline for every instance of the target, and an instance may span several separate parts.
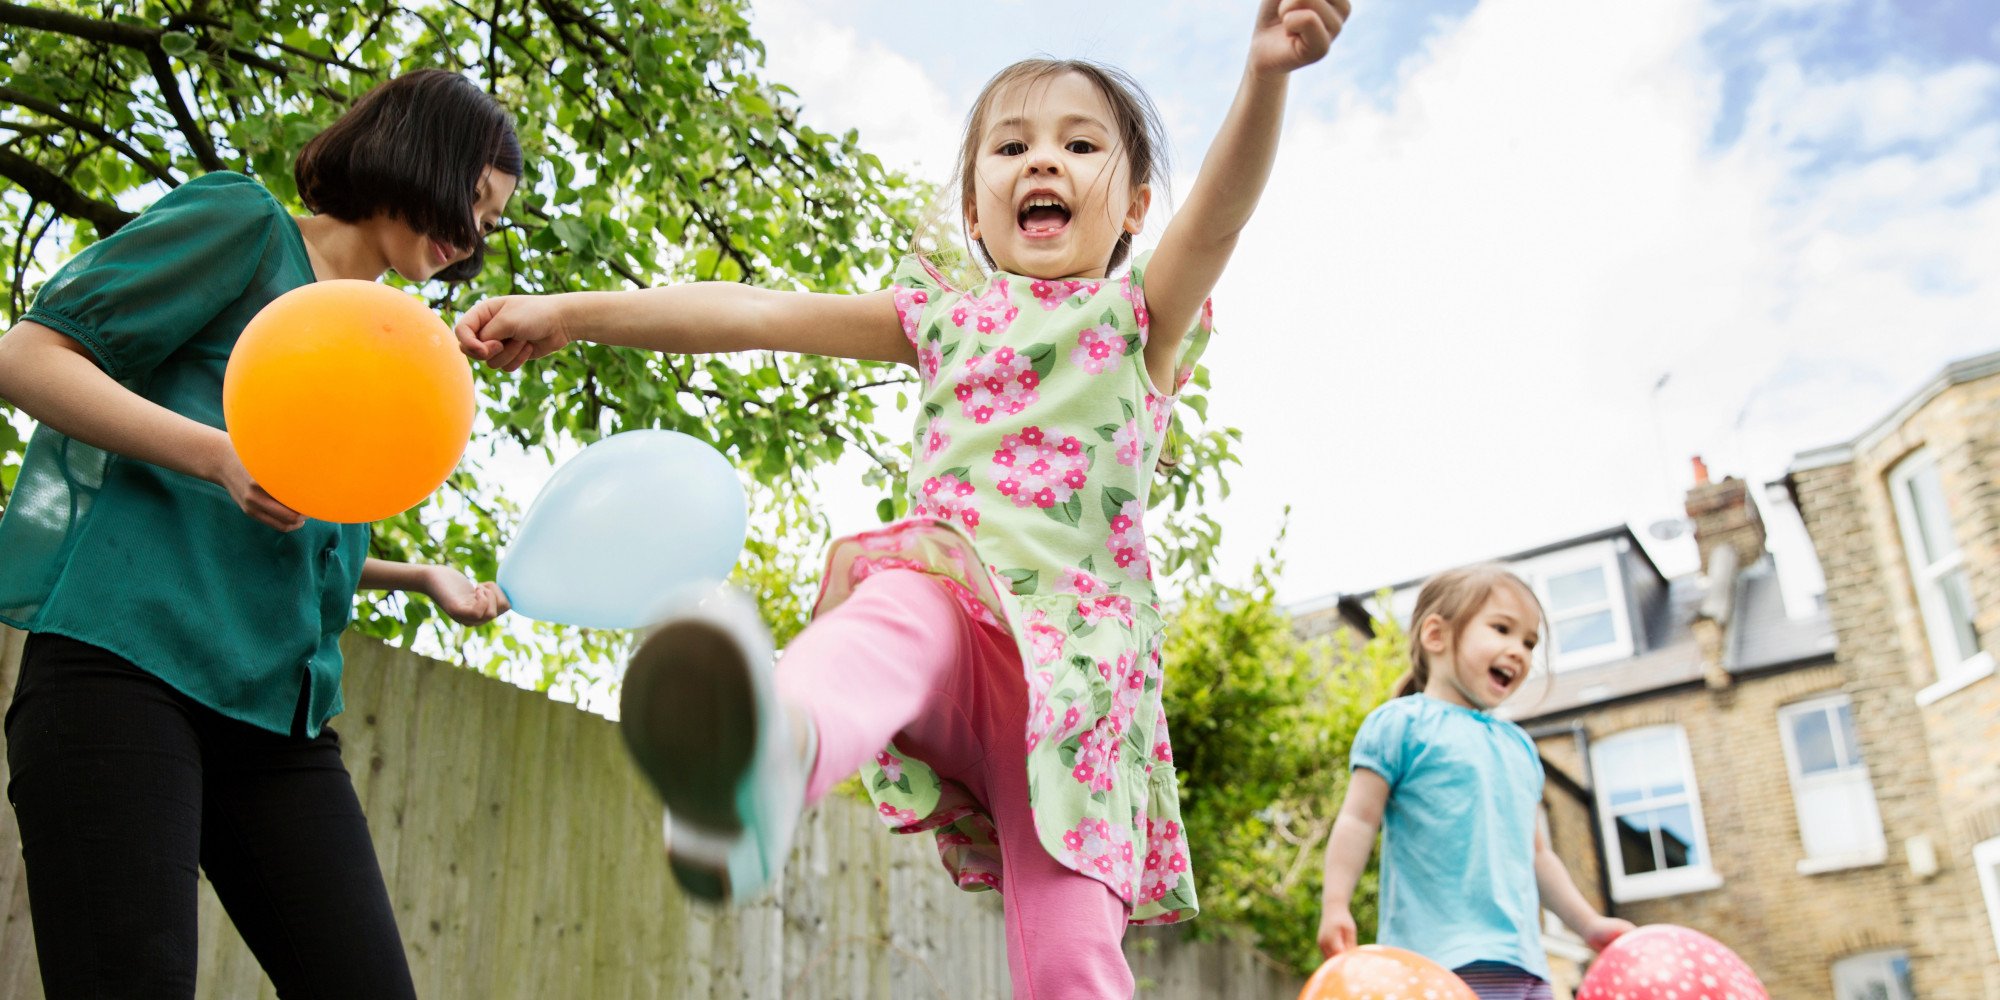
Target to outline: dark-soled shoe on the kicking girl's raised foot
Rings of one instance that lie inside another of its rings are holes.
[[[750,598],[722,590],[662,620],[632,654],[618,708],[626,748],[666,800],[680,886],[722,902],[776,880],[806,772]]]

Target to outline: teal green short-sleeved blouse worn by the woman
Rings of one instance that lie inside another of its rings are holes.
[[[244,324],[312,280],[284,206],[218,172],[86,248],[22,318],[220,428]],[[224,716],[316,736],[340,714],[338,640],[366,558],[366,524],[278,532],[222,486],[42,426],[0,518],[0,622],[110,650]]]

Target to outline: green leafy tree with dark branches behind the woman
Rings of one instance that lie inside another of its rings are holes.
[[[242,170],[294,204],[292,154],[360,92],[398,72],[466,72],[514,108],[528,172],[486,274],[424,286],[448,312],[502,292],[564,292],[738,280],[856,292],[912,246],[930,192],[886,170],[858,136],[800,120],[768,80],[740,0],[138,0],[0,2],[0,236],[12,324],[40,280],[116,232],[168,188]],[[478,434],[530,454],[568,454],[604,434],[670,428],[744,470],[758,538],[742,580],[780,636],[804,622],[826,538],[816,472],[858,452],[900,514],[902,434],[878,430],[914,376],[900,366],[748,354],[658,356],[582,346],[518,376],[480,372]],[[1206,374],[1202,376],[1206,388]],[[1198,394],[1196,394],[1198,396]],[[1194,404],[1206,414],[1206,400]],[[0,502],[18,472],[20,422],[0,404]],[[1234,430],[1176,438],[1200,458],[1168,474],[1162,566],[1206,560],[1218,538],[1192,504],[1224,492]],[[490,578],[520,520],[474,446],[424,506],[376,526],[374,554],[444,562]],[[460,630],[422,600],[364,598],[356,628],[432,636],[488,670],[552,684],[604,662],[622,634],[556,626]],[[588,682],[592,678],[580,676]]]

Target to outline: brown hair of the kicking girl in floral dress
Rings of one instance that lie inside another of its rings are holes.
[[[1166,126],[1160,124],[1160,110],[1152,106],[1152,98],[1132,80],[1124,70],[1104,66],[1090,60],[1020,60],[994,74],[986,80],[986,88],[972,102],[972,112],[966,114],[966,138],[958,148],[958,198],[960,214],[972,214],[974,202],[974,164],[980,156],[980,134],[986,132],[986,122],[992,118],[994,100],[1000,88],[1014,82],[1042,82],[1062,76],[1066,72],[1080,74],[1090,80],[1092,86],[1104,94],[1104,102],[1112,106],[1112,126],[1118,128],[1118,152],[1124,154],[1126,166],[1132,170],[1132,188],[1138,190],[1140,184],[1152,184],[1154,188],[1166,186]],[[996,268],[994,258],[986,252],[984,240],[972,240],[976,246],[976,256],[988,266]],[[1112,260],[1104,270],[1112,270],[1132,254],[1132,234],[1120,234],[1118,246],[1112,248]]]

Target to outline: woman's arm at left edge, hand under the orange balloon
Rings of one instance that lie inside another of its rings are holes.
[[[214,482],[280,532],[306,524],[250,482],[228,432],[120,386],[82,344],[48,326],[22,320],[0,336],[0,398],[84,444]]]

